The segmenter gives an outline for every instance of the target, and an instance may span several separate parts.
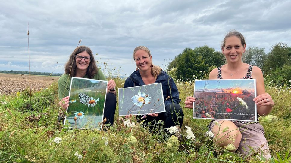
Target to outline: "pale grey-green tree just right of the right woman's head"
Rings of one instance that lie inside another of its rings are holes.
[[[246,49],[246,53],[243,54],[243,62],[258,66],[259,68],[263,68],[264,60],[267,58],[264,48],[259,48],[256,46],[249,47]]]

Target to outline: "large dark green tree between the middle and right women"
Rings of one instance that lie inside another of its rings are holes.
[[[202,76],[205,71],[208,73],[210,66],[224,64],[223,54],[216,52],[207,45],[196,47],[195,49],[186,48],[182,53],[170,62],[168,70],[177,68],[175,75],[181,80],[192,79],[193,75]]]

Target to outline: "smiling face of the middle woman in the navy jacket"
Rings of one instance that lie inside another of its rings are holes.
[[[140,71],[150,71],[152,64],[152,56],[144,50],[138,50],[134,53],[134,61]]]

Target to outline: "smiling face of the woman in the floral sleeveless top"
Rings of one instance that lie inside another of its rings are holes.
[[[246,50],[246,44],[242,45],[241,40],[236,36],[231,36],[225,40],[225,46],[222,53],[227,62],[238,62],[242,60],[243,53]]]

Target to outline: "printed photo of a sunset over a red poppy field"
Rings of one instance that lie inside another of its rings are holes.
[[[193,118],[257,121],[255,79],[195,80]]]

